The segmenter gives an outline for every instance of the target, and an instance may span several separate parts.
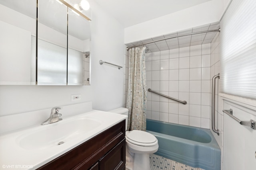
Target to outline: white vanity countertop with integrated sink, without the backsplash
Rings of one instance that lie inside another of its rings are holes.
[[[126,118],[120,114],[92,110],[56,123],[38,124],[2,134],[0,165],[30,165],[23,170],[34,170]],[[64,143],[58,145],[60,142]],[[8,169],[15,170],[15,167]]]

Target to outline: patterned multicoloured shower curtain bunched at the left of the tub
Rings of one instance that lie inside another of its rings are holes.
[[[128,113],[128,129],[146,131],[146,47],[130,49],[129,80],[126,107]]]

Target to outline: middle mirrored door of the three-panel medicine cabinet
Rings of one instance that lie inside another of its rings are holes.
[[[67,6],[38,0],[38,85],[67,84]]]

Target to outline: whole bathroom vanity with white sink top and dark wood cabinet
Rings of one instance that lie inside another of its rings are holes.
[[[62,107],[63,119],[48,125],[40,124],[50,109],[0,117],[0,169],[125,170],[127,116],[93,110],[91,102]],[[22,127],[29,117],[36,124]]]

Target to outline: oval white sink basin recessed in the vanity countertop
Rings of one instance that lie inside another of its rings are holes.
[[[58,121],[24,133],[16,142],[20,147],[29,150],[58,147],[58,143],[63,142],[61,145],[64,145],[65,142],[85,135],[100,125],[99,120],[90,117],[66,122]]]

